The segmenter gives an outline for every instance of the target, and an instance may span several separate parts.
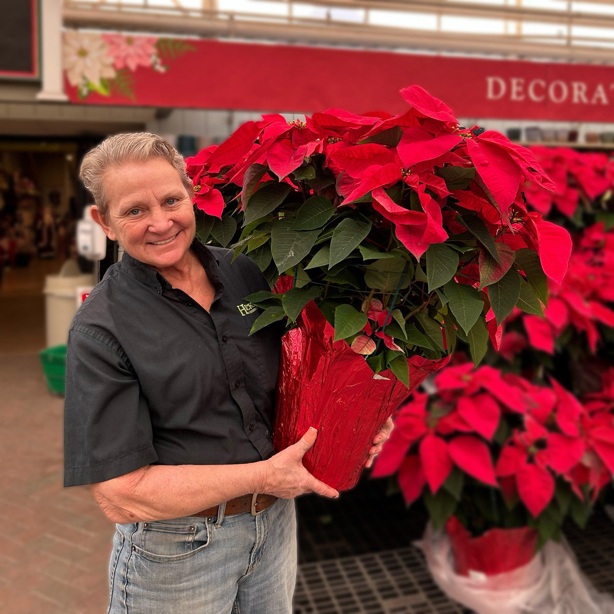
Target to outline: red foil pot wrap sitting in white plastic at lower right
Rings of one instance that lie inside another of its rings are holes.
[[[470,570],[496,575],[523,567],[535,556],[537,530],[491,529],[472,537],[456,516],[446,523],[446,532],[454,555],[454,569],[461,575]]]

